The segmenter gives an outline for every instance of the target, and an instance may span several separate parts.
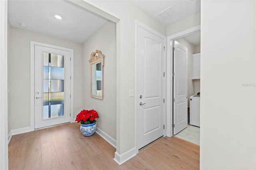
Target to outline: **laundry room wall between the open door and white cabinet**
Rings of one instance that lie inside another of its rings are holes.
[[[193,85],[194,80],[191,79],[192,78],[192,75],[191,75],[192,54],[195,53],[196,46],[188,42],[184,38],[179,38],[176,41],[188,48],[188,107],[189,107],[189,97],[199,92],[194,90],[194,85]],[[196,90],[197,89],[198,88],[196,87]]]

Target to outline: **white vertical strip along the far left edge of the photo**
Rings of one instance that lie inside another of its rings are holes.
[[[8,169],[8,1],[0,0],[0,169]]]

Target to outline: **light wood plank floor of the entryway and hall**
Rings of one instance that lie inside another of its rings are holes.
[[[116,149],[94,133],[85,137],[80,124],[69,123],[12,136],[9,170],[196,170],[199,146],[164,137],[119,166]]]

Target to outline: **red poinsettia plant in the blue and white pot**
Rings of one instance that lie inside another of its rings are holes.
[[[81,124],[91,124],[95,123],[96,119],[99,118],[98,113],[95,110],[82,110],[78,115],[76,116],[77,123]]]

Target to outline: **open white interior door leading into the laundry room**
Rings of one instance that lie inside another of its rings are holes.
[[[173,134],[188,127],[188,48],[173,44]]]

